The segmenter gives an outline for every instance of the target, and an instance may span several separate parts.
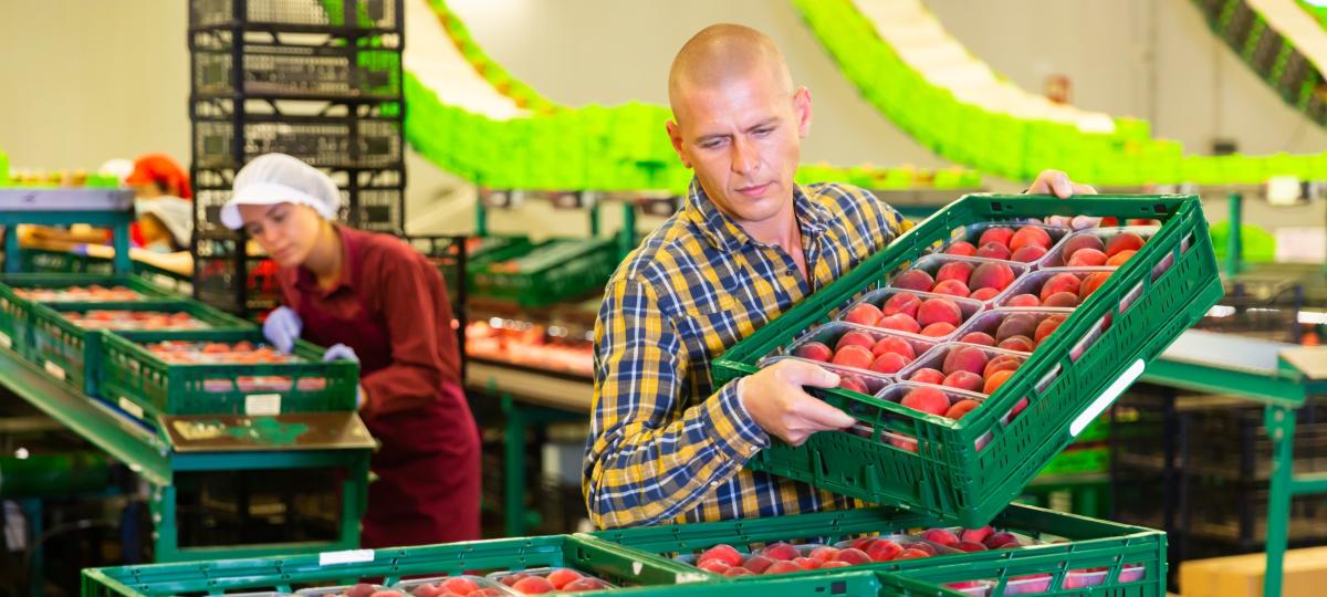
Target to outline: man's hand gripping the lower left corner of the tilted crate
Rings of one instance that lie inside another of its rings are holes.
[[[802,389],[837,385],[839,375],[820,366],[786,360],[743,378],[738,386],[738,399],[767,434],[792,446],[802,446],[816,431],[847,429],[857,422]]]

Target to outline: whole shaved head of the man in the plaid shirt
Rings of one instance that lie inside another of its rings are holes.
[[[673,58],[667,90],[673,149],[721,211],[740,224],[791,212],[811,94],[794,89],[774,40],[710,25]]]

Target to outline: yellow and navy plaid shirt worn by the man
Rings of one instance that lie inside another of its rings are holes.
[[[856,505],[743,464],[770,436],[710,362],[906,230],[841,184],[794,190],[804,280],[691,180],[686,206],[617,268],[594,325],[594,401],[583,490],[598,528],[695,523]]]

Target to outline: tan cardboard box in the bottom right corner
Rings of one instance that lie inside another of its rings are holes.
[[[1180,564],[1184,597],[1262,597],[1265,553],[1190,560]],[[1327,594],[1327,547],[1286,552],[1283,597]]]

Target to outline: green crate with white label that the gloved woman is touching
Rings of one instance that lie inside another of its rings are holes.
[[[265,344],[263,332],[115,332],[101,341],[102,398],[139,417],[353,411],[360,364],[322,362],[324,350],[299,341],[293,364],[167,364],[142,344],[161,341]],[[281,377],[281,387],[252,387]],[[249,387],[245,387],[249,386]]]

